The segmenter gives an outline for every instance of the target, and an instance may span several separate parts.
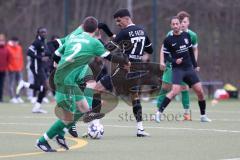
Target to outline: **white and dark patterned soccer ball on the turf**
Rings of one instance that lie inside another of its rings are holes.
[[[88,135],[92,139],[101,139],[104,134],[104,128],[102,124],[91,124],[88,127]]]

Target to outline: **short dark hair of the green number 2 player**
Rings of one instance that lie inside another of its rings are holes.
[[[98,28],[98,20],[95,17],[89,16],[83,20],[83,30],[93,33]]]

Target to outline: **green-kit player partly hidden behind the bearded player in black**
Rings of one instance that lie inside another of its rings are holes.
[[[194,56],[195,59],[197,61],[198,58],[198,37],[197,34],[193,31],[191,31],[189,29],[189,25],[190,25],[190,14],[188,14],[185,11],[181,11],[177,14],[177,17],[179,17],[180,21],[181,21],[181,30],[184,32],[189,33],[190,37],[191,37],[191,41],[192,41],[192,45],[193,45],[193,52],[194,52]],[[169,31],[167,36],[172,35],[173,31]],[[164,70],[164,74],[163,74],[163,84],[162,84],[162,88],[160,90],[160,95],[158,97],[157,100],[157,107],[160,107],[160,104],[162,103],[164,97],[166,96],[166,94],[169,92],[169,90],[172,87],[172,66],[170,62],[164,62],[164,56],[163,56],[163,51],[162,51],[162,47],[160,50],[160,68],[161,70]],[[191,120],[191,116],[190,116],[190,100],[189,100],[189,92],[188,92],[188,86],[183,82],[182,83],[182,105],[184,108],[184,120]],[[158,112],[156,113],[156,122],[160,122],[159,119],[159,114]]]

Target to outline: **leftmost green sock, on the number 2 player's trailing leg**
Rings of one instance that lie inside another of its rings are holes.
[[[49,129],[48,131],[44,134],[44,136],[39,138],[39,141],[44,143],[48,139],[52,139],[55,137],[57,134],[62,133],[63,129],[66,127],[66,125],[61,121],[57,120]]]

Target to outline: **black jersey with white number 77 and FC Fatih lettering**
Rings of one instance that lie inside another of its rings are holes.
[[[131,62],[139,62],[144,52],[152,54],[152,43],[142,27],[134,24],[122,29],[113,40],[128,55]]]

